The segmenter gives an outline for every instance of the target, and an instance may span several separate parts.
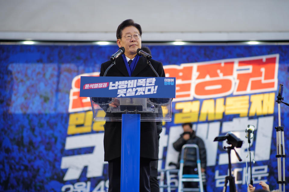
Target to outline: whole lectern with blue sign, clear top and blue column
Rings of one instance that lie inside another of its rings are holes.
[[[94,120],[122,122],[121,192],[139,191],[140,122],[171,121],[175,82],[175,77],[80,79],[80,97],[90,97]]]

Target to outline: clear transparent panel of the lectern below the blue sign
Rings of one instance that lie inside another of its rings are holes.
[[[121,121],[137,113],[141,121],[171,121],[171,98],[90,98],[95,121]]]

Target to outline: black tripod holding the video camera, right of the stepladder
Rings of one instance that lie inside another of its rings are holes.
[[[225,177],[225,185],[224,185],[224,188],[223,188],[223,192],[225,192],[227,190],[228,182],[229,182],[229,187],[230,187],[229,192],[236,192],[235,177],[232,176],[231,150],[234,149],[234,151],[236,153],[236,156],[237,156],[239,161],[242,161],[242,159],[240,158],[239,154],[236,152],[235,146],[224,147],[224,149],[225,150],[227,149],[228,156],[229,156],[229,176]]]

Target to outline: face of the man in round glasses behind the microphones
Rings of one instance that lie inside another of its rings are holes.
[[[136,55],[136,50],[138,48],[141,48],[141,38],[135,39],[133,36],[138,33],[138,29],[134,26],[128,26],[123,29],[123,32],[121,34],[121,38],[117,40],[117,45],[119,47],[124,47],[125,52],[124,54],[129,57],[129,56],[135,56]],[[127,40],[124,36],[127,35],[132,35],[131,40]]]

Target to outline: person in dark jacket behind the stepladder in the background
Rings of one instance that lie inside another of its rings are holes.
[[[184,123],[182,124],[184,133],[181,134],[181,137],[176,140],[175,143],[173,143],[173,147],[176,149],[176,151],[179,153],[179,159],[177,168],[179,168],[180,165],[180,159],[181,159],[181,150],[182,146],[185,144],[196,144],[199,147],[199,153],[200,153],[200,161],[201,161],[201,171],[202,175],[205,174],[206,166],[207,166],[207,155],[206,155],[206,148],[204,141],[197,137],[195,134],[195,131],[192,129],[191,123]],[[197,154],[196,149],[194,148],[187,148],[184,151],[184,169],[183,174],[197,174]],[[204,181],[204,180],[203,180]],[[205,183],[203,183],[204,189]],[[197,188],[198,183],[197,182],[184,182],[185,188]]]

